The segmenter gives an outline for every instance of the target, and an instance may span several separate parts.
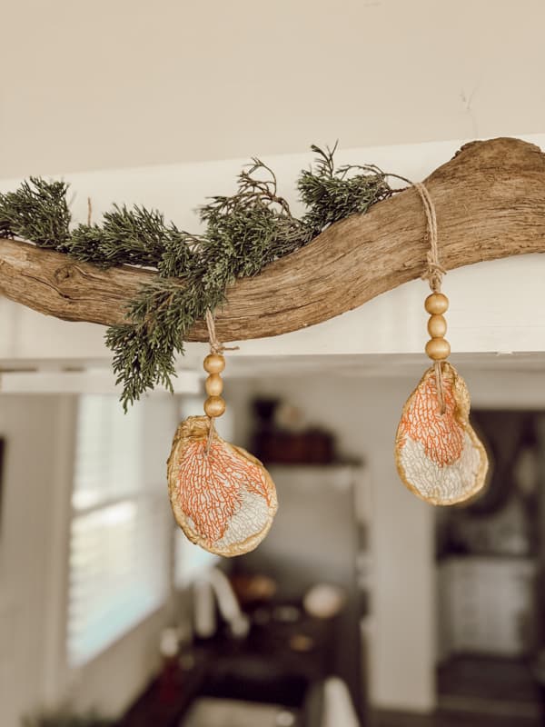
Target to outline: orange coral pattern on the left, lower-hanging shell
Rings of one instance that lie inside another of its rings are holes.
[[[179,460],[178,494],[183,512],[208,543],[223,538],[233,514],[241,507],[243,490],[270,497],[263,468],[222,441],[213,442],[206,454],[207,438],[184,448]]]

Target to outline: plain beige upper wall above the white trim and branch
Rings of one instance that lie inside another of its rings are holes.
[[[541,0],[17,0],[0,176],[540,131]]]

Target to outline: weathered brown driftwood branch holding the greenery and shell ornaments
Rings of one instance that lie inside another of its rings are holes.
[[[466,144],[425,184],[436,206],[447,270],[545,252],[545,154],[537,146],[509,138]],[[234,341],[320,323],[420,277],[426,253],[421,200],[408,189],[233,284],[227,304],[216,312],[217,333]],[[104,271],[0,239],[0,292],[67,321],[123,321],[127,302],[152,278],[147,271]],[[189,340],[206,340],[203,324],[194,326]]]

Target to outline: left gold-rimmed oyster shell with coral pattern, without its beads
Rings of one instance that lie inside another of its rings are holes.
[[[277,509],[263,464],[225,442],[207,416],[190,416],[175,435],[167,476],[174,518],[192,543],[241,555],[262,542]]]

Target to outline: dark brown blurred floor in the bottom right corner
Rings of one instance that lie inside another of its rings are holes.
[[[462,656],[437,675],[433,715],[379,712],[369,727],[541,727],[540,692],[526,662]]]

